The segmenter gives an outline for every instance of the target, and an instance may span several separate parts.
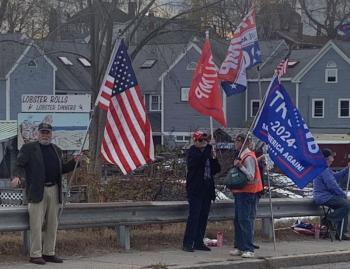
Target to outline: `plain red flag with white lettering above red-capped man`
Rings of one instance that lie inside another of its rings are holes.
[[[189,104],[199,113],[213,117],[226,127],[218,72],[208,39],[204,43],[201,57],[192,78]]]

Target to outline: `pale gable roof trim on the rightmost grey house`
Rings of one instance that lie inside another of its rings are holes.
[[[346,46],[345,46],[346,47]],[[349,51],[343,51],[342,49],[340,49],[333,40],[330,40],[327,42],[326,45],[324,45],[324,47],[315,55],[315,57],[313,57],[311,59],[311,61],[308,62],[308,64],[306,64],[304,66],[304,68],[302,68],[300,70],[300,72],[298,74],[296,74],[296,76],[293,78],[293,82],[300,82],[302,80],[302,78],[311,70],[311,68],[317,64],[320,59],[326,55],[326,53],[328,51],[330,51],[331,49],[333,49],[341,58],[343,58],[348,64],[350,64],[350,49],[348,49]]]

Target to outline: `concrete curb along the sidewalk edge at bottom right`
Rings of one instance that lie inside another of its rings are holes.
[[[169,266],[169,269],[280,269],[293,266],[307,266],[350,261],[350,251],[330,251],[293,256],[257,259],[213,261],[191,266]]]

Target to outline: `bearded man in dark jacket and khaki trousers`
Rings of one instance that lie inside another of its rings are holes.
[[[72,171],[75,158],[67,163],[62,151],[52,144],[52,126],[41,123],[38,141],[24,144],[19,151],[11,185],[24,181],[30,225],[30,262],[62,263],[55,255],[59,204],[62,202],[62,174]],[[43,223],[44,230],[43,229]]]

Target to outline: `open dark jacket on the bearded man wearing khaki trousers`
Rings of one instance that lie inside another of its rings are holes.
[[[52,144],[58,159],[60,160],[60,176],[58,180],[59,202],[62,202],[62,174],[73,171],[75,161],[67,163],[62,161],[62,151],[59,147]],[[40,149],[39,142],[24,144],[19,151],[16,161],[16,167],[13,172],[14,176],[25,178],[26,194],[28,202],[39,203],[43,199],[45,184],[45,165]]]

